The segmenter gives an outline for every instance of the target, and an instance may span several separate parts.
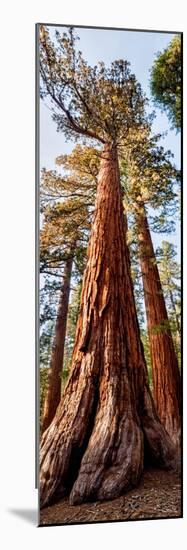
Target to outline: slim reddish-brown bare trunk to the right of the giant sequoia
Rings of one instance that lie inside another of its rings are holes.
[[[180,443],[181,381],[145,207],[137,207],[139,258],[151,350],[156,408],[173,442]]]

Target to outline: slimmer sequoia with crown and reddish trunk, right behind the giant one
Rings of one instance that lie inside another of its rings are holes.
[[[160,418],[174,443],[180,441],[181,382],[177,355],[148,222],[147,205],[156,209],[153,227],[164,229],[168,212],[176,213],[174,182],[178,172],[170,153],[157,144],[158,137],[141,134],[129,147],[126,165],[129,208],[134,212],[138,253],[149,333],[154,398]],[[166,215],[167,213],[167,215]],[[158,223],[159,222],[159,223]],[[169,224],[166,224],[167,230]]]

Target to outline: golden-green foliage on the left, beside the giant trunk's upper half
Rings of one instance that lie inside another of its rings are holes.
[[[56,316],[63,268],[67,258],[72,254],[72,279],[79,281],[82,278],[96,193],[99,156],[98,150],[77,145],[70,155],[61,155],[56,161],[62,166],[62,176],[55,171],[42,171],[41,324]]]

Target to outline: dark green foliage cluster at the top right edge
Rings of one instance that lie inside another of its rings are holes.
[[[181,127],[181,37],[173,38],[159,53],[151,71],[151,92],[156,105],[166,110],[172,127]]]

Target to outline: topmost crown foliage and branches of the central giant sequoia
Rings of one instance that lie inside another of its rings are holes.
[[[56,31],[53,43],[50,31],[40,26],[41,97],[51,99],[53,119],[67,139],[119,144],[129,127],[144,122],[141,87],[127,61],[90,67],[76,43],[72,28]]]

